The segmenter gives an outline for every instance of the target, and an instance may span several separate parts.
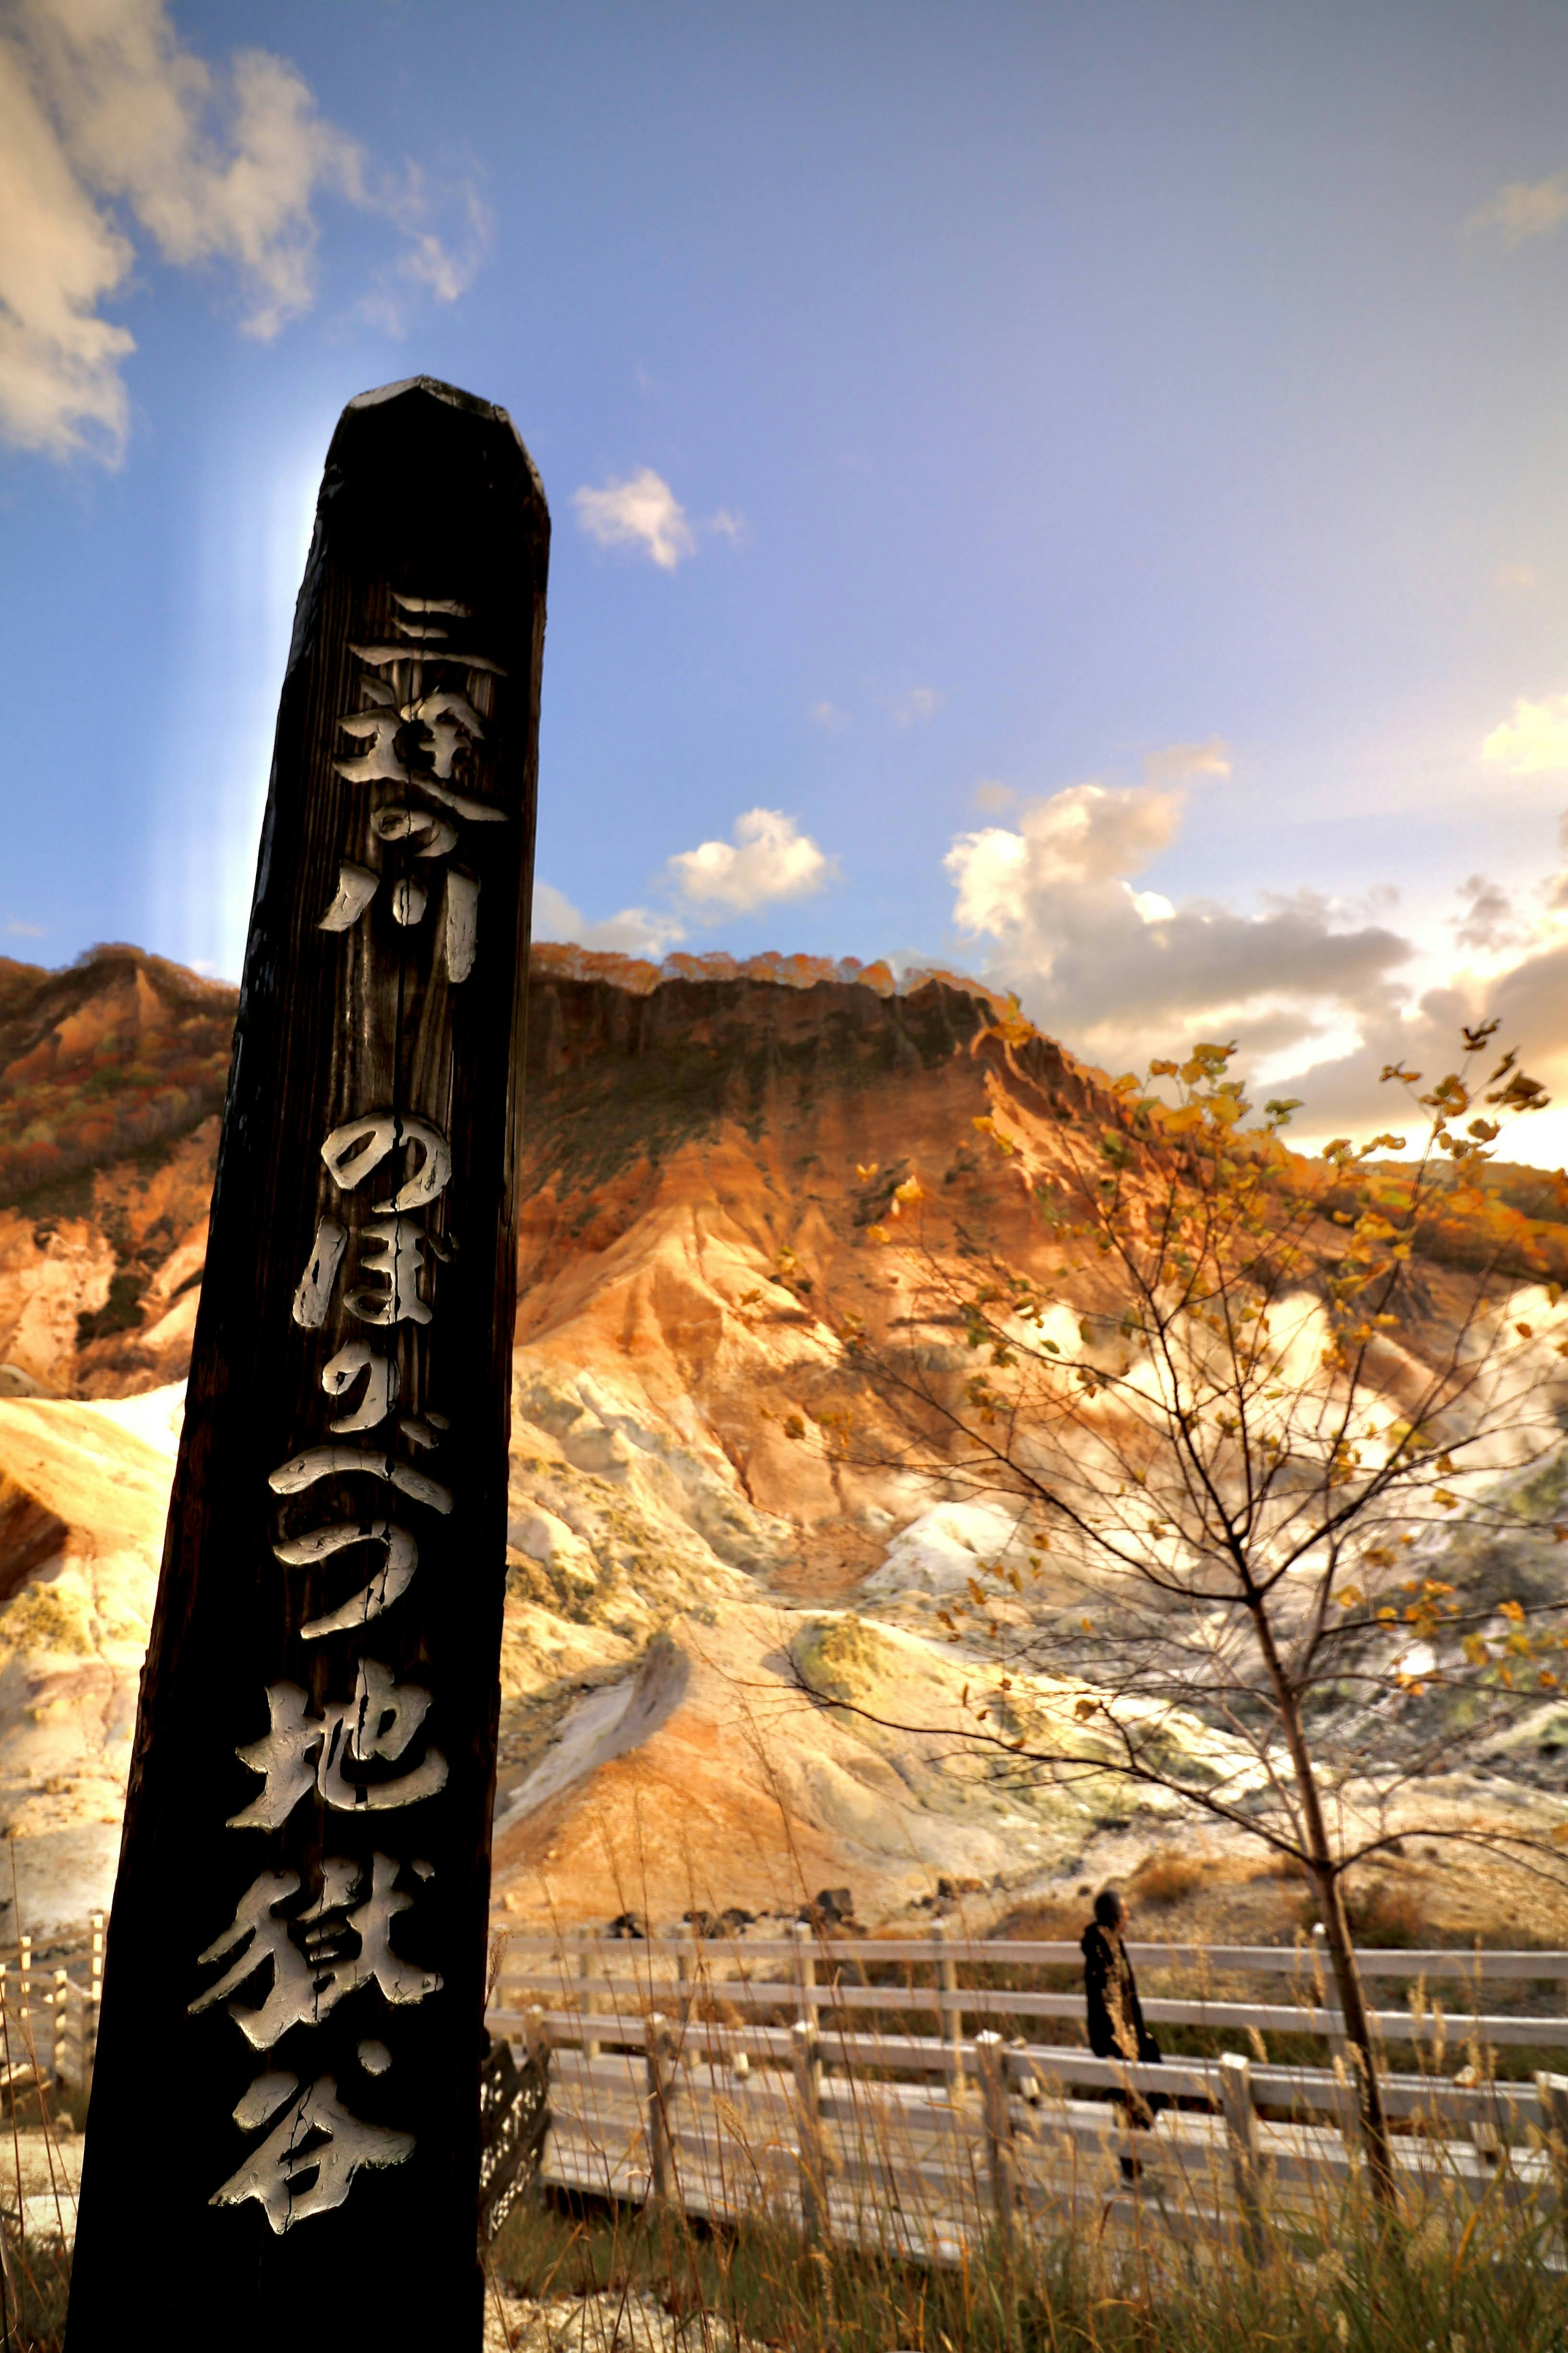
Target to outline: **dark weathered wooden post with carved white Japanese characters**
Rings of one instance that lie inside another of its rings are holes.
[[[480,2344],[548,511],[343,412],[277,715],[108,1932],[73,2353]]]

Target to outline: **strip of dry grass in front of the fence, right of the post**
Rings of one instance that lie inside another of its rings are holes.
[[[1347,2202],[1333,2235],[1269,2233],[1262,2261],[1098,2233],[1023,2233],[933,2268],[865,2249],[809,2252],[785,2219],[708,2228],[602,2200],[517,2207],[494,2280],[524,2297],[651,2292],[672,2341],[722,2353],[1561,2353],[1568,2282],[1530,2217],[1500,2202],[1389,2231]],[[592,2306],[583,2306],[583,2344]],[[576,2344],[576,2337],[571,2339]]]

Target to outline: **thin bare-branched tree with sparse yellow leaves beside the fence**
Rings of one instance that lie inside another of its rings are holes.
[[[1039,1092],[1030,1035],[992,1033],[1020,1104]],[[985,1214],[938,1235],[905,1176],[870,1240],[896,1252],[910,1315],[882,1337],[839,1320],[877,1409],[818,1417],[839,1457],[1004,1504],[1016,1525],[938,1612],[978,1659],[961,1725],[910,1732],[957,1732],[1020,1777],[1173,1793],[1307,1875],[1385,2198],[1345,1873],[1413,1828],[1413,1793],[1458,1744],[1556,1689],[1568,1640],[1559,1579],[1521,1602],[1439,1574],[1455,1520],[1568,1539],[1559,1287],[1509,1266],[1486,1191],[1502,1125],[1544,1096],[1514,1054],[1479,1080],[1490,1040],[1467,1031],[1425,1094],[1420,1073],[1385,1073],[1422,1118],[1410,1158],[1389,1158],[1406,1153],[1392,1134],[1314,1162],[1286,1151],[1300,1106],[1248,1125],[1222,1045],[1117,1080],[1105,1120],[1053,1122],[1051,1155],[1039,1122],[1020,1122],[1030,1139],[976,1120],[1030,1198],[1030,1247],[1004,1247]],[[1434,1257],[1455,1231],[1462,1275]],[[1533,1868],[1559,1852],[1453,1814],[1427,1835]]]

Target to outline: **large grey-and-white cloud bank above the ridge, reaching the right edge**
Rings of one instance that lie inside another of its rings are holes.
[[[987,941],[985,976],[1112,1071],[1234,1038],[1258,1094],[1305,1099],[1293,1127],[1302,1148],[1378,1127],[1415,1136],[1425,1113],[1382,1085],[1382,1068],[1403,1064],[1432,1082],[1455,1068],[1462,1024],[1497,1019],[1497,1042],[1563,1106],[1505,1132],[1500,1153],[1568,1160],[1568,868],[1540,885],[1537,913],[1469,875],[1453,929],[1483,965],[1418,991],[1410,941],[1312,892],[1244,915],[1138,889],[1180,816],[1175,788],[1079,784],[1027,802],[1013,828],[957,835],[954,915]],[[1561,845],[1568,854],[1568,816]]]

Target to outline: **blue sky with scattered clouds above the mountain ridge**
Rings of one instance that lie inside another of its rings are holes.
[[[237,972],[331,424],[433,372],[555,513],[541,932],[1568,1094],[1566,89],[1516,0],[9,0],[0,953]]]

